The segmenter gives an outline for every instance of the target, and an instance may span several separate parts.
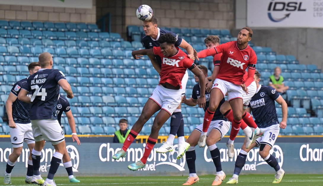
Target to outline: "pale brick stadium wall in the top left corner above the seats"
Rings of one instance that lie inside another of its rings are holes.
[[[1,5],[0,19],[18,21],[96,23],[96,1],[91,9],[26,5]]]

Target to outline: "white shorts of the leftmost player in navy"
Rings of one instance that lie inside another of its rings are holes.
[[[16,129],[9,128],[9,132],[11,144],[14,148],[24,146],[24,141],[26,141],[27,144],[35,143],[31,123],[16,123]]]

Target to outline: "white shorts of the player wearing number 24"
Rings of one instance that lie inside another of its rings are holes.
[[[50,141],[53,145],[65,141],[64,132],[57,120],[31,120],[36,142]]]

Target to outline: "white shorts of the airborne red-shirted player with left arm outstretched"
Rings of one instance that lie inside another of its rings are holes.
[[[242,90],[240,85],[235,85],[222,79],[215,79],[212,89],[214,88],[219,89],[222,92],[223,97],[226,93],[228,93],[228,101],[236,98],[243,99],[242,94],[244,91]]]

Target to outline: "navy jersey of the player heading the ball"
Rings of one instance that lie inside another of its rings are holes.
[[[151,38],[151,36],[146,36],[145,35],[141,39],[141,42],[142,42],[143,46],[146,49],[150,49],[150,48],[152,48],[154,46],[159,46],[158,39],[162,34],[172,34],[176,38],[175,46],[177,47],[177,46],[181,45],[181,43],[182,43],[182,38],[181,37],[179,37],[177,34],[175,34],[172,31],[168,31],[168,30],[161,29],[161,28],[158,28],[158,35],[157,35],[156,39]],[[157,59],[157,62],[159,64],[159,66],[161,67],[161,57],[159,55],[155,55],[155,58]]]

